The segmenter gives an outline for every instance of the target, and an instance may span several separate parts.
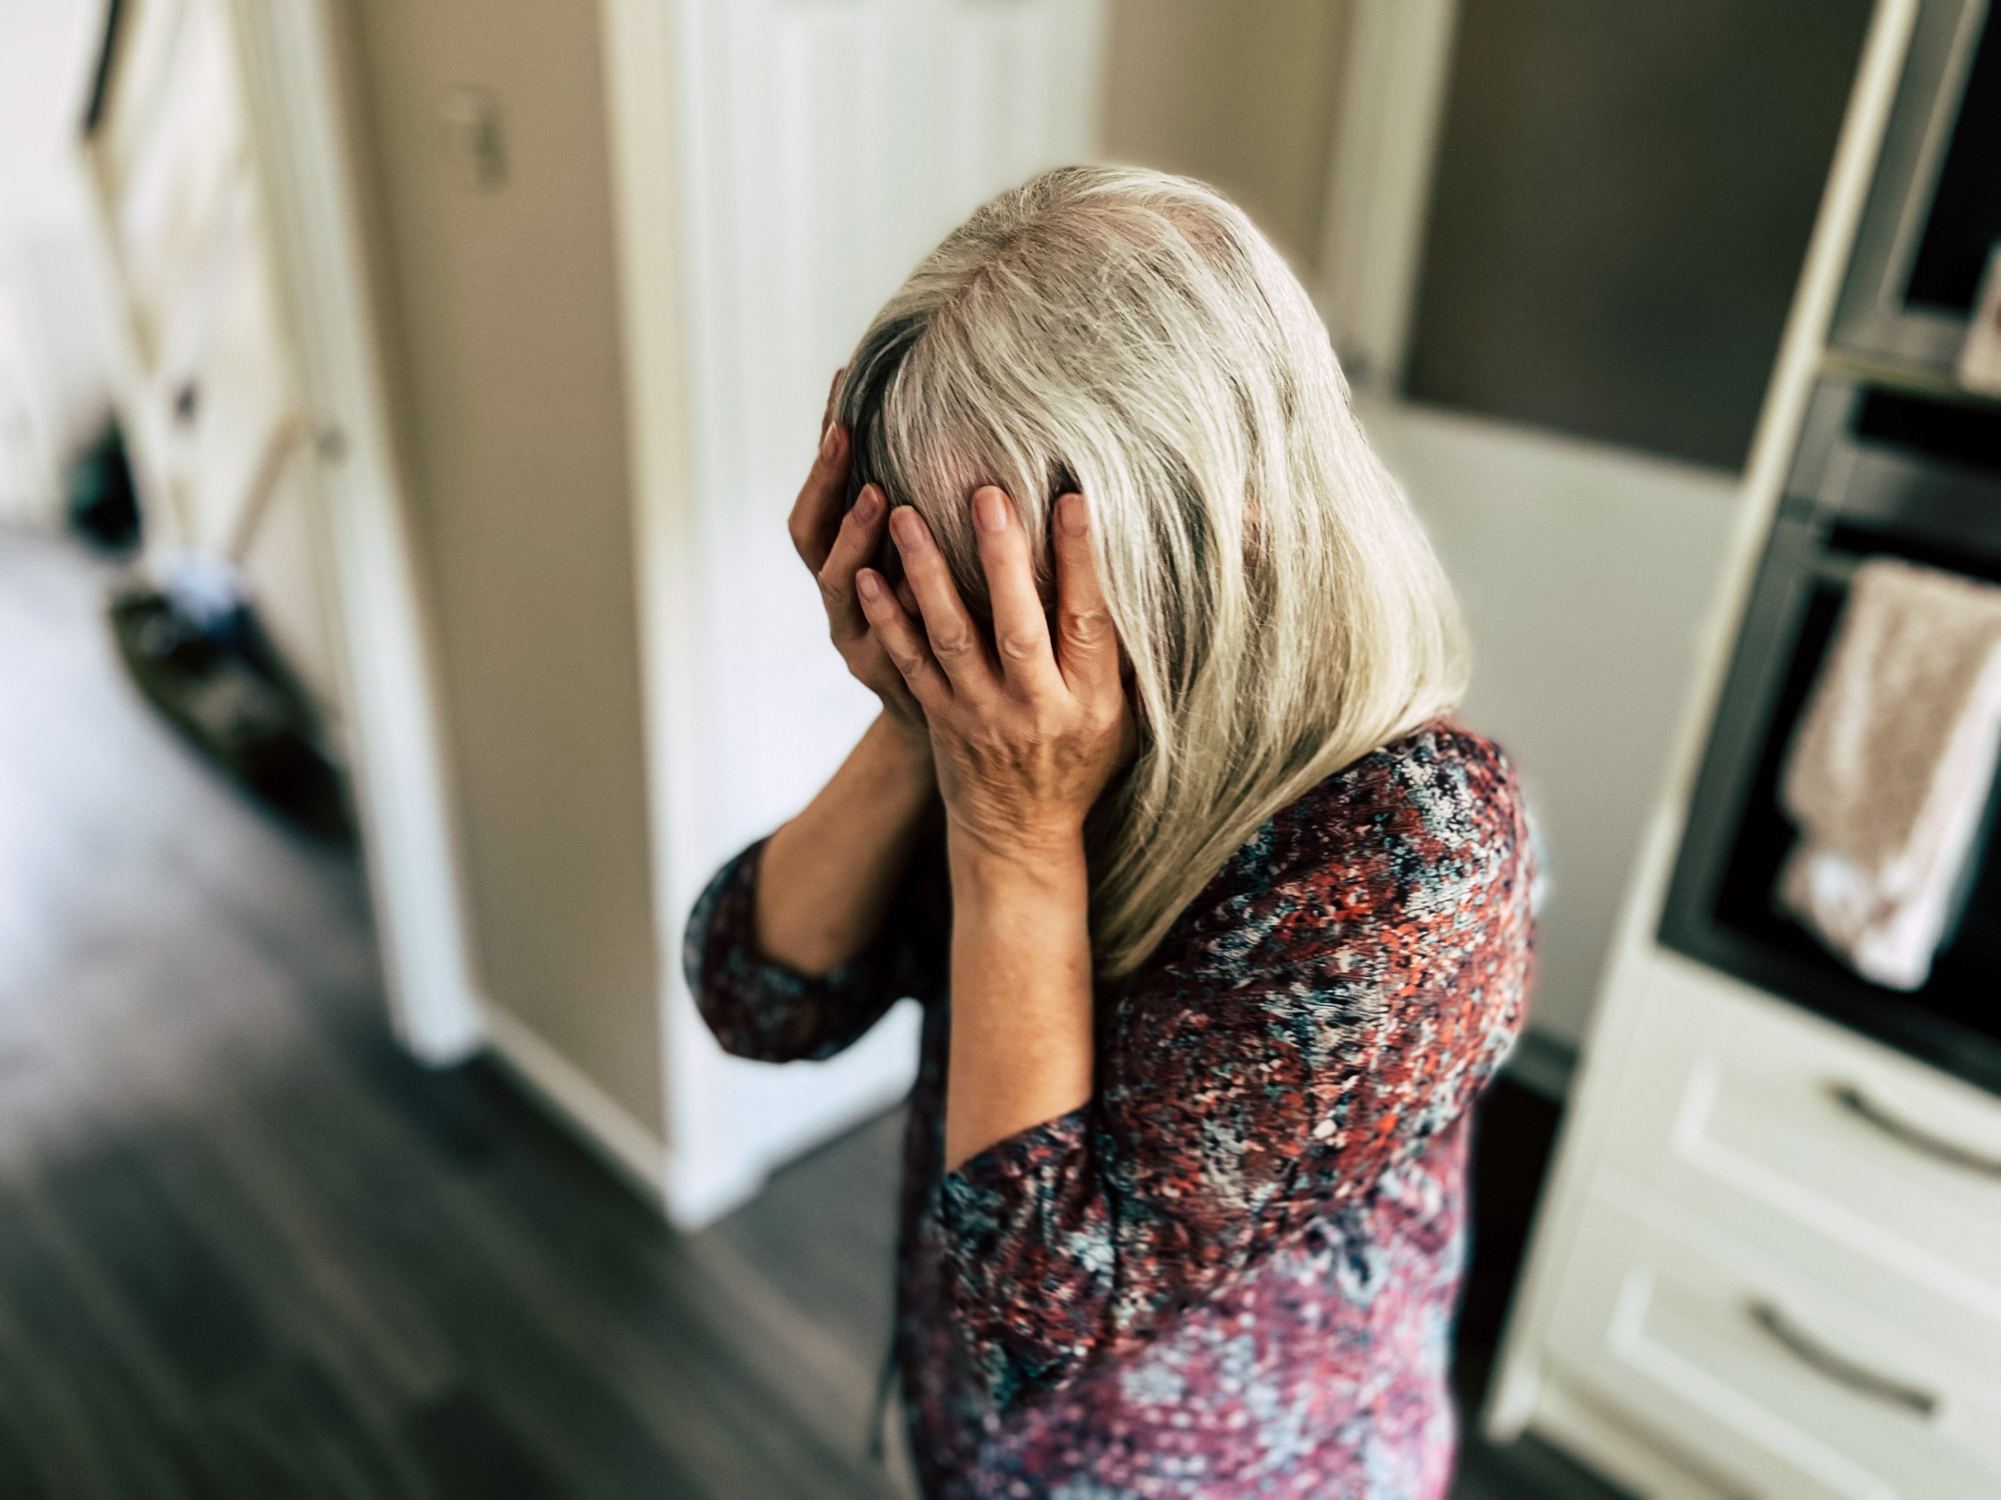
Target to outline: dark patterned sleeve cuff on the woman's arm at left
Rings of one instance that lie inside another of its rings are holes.
[[[758,1062],[830,1058],[902,996],[928,998],[942,970],[934,942],[912,924],[908,880],[882,934],[824,976],[766,960],[756,946],[756,880],[764,840],[716,872],[682,938],[694,1004],[726,1052]]]

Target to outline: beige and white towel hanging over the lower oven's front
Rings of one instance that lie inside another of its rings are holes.
[[[2001,588],[1863,562],[1785,766],[1779,904],[1863,978],[1923,986],[1997,748]]]

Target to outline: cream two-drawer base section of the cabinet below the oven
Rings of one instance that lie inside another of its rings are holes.
[[[1619,1054],[1529,1420],[1649,1492],[2001,1492],[2001,1174],[1949,1160],[2001,1100],[1673,954]]]

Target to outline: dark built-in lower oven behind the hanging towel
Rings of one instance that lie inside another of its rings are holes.
[[[1661,940],[2001,1094],[1997,794],[1955,926],[1913,992],[1879,988],[1779,910],[1795,844],[1779,778],[1855,566],[1897,556],[2001,582],[2001,406],[1815,390],[1711,726]]]

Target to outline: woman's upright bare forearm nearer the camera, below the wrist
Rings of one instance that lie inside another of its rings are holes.
[[[1091,884],[1083,834],[1037,858],[952,840],[944,1164],[1091,1098]]]

